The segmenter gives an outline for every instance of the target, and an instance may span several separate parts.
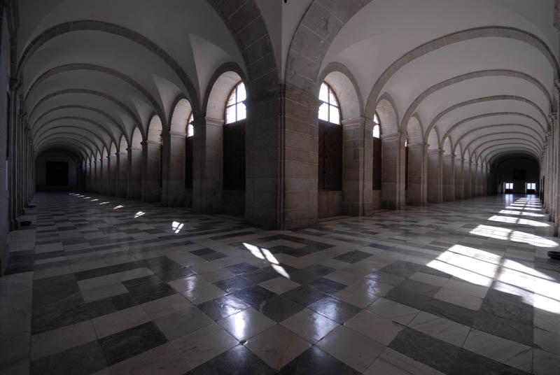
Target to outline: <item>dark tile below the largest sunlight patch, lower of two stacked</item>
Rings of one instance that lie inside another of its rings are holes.
[[[472,327],[521,344],[533,346],[533,321],[516,321],[486,311],[477,313]]]

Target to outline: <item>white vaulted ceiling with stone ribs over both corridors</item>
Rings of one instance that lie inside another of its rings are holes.
[[[16,60],[36,152],[130,144],[154,114],[169,122],[181,94],[200,109],[218,66],[248,66],[216,11],[223,1],[20,0]],[[391,98],[394,130],[410,142],[485,161],[542,155],[558,100],[554,0],[230,3],[260,10],[280,81],[297,85],[294,58],[316,61],[316,86],[336,63],[360,115]],[[301,47],[309,56],[295,53],[305,33],[320,36]]]

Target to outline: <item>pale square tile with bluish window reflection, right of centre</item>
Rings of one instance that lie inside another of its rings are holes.
[[[329,318],[325,318],[309,309],[303,309],[299,313],[284,320],[281,325],[295,334],[303,337],[311,344],[323,339],[330,331],[339,327],[339,324]]]

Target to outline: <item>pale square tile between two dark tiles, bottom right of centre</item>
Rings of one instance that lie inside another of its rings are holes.
[[[330,332],[317,346],[358,372],[364,372],[385,348],[347,327]]]

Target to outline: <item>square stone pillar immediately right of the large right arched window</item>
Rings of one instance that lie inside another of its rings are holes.
[[[373,203],[373,122],[342,121],[342,213],[369,215]]]

